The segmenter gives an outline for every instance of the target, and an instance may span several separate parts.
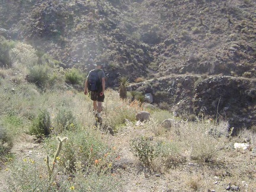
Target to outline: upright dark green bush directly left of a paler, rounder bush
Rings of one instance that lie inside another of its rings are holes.
[[[50,113],[47,110],[41,110],[30,127],[29,133],[41,137],[50,134]]]

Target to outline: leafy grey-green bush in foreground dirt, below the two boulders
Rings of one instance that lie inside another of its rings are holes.
[[[161,148],[161,143],[154,143],[151,137],[137,137],[132,139],[131,149],[135,156],[139,157],[140,162],[145,167],[151,167],[153,159],[155,159]]]

